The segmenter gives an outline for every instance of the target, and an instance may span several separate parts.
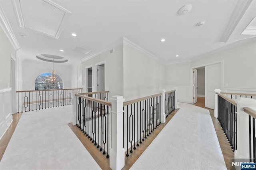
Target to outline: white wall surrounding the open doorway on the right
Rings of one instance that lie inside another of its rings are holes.
[[[256,93],[256,41],[185,63],[166,65],[167,87],[178,88],[178,101],[193,102],[193,68],[222,63],[222,91]]]

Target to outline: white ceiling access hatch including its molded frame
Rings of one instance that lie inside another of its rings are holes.
[[[58,39],[71,14],[50,0],[14,0],[20,27]]]

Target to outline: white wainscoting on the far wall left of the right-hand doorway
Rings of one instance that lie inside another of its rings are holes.
[[[190,86],[164,86],[165,91],[173,90],[174,87],[177,88],[177,101],[183,103],[191,103],[190,94],[191,87]]]

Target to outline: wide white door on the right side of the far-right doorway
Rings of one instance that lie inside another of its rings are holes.
[[[221,64],[205,66],[205,107],[214,109],[215,107],[215,89],[221,89]]]

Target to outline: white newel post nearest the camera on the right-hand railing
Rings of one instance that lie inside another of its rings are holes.
[[[235,159],[249,158],[249,118],[244,112],[244,107],[256,107],[256,100],[240,98],[237,104],[237,150]]]

